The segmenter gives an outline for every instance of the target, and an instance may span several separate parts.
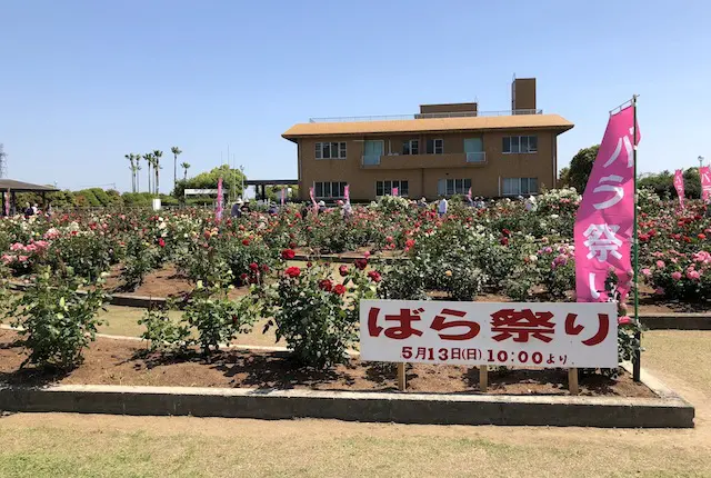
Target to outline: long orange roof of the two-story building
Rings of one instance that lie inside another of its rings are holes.
[[[463,118],[423,118],[388,121],[308,122],[294,125],[282,135],[293,140],[312,136],[471,131],[491,129],[552,129],[568,131],[573,123],[559,114],[510,114]]]

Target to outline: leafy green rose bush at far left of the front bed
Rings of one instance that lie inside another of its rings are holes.
[[[21,345],[30,350],[22,362],[71,369],[83,360],[82,350],[96,339],[101,321],[97,312],[107,296],[100,281],[94,290],[79,293],[74,276],[52,280],[49,268],[39,273],[10,308],[12,326],[20,328]]]

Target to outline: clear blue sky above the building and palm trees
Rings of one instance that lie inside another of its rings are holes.
[[[632,93],[640,171],[711,159],[707,1],[4,0],[0,16],[14,179],[127,190],[123,155],[161,149],[168,191],[171,146],[199,172],[228,145],[248,177],[296,177],[281,138],[296,122],[474,99],[502,110],[514,73],[575,123],[560,167]]]

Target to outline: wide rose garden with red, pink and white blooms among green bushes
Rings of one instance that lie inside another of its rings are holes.
[[[290,206],[219,223],[200,209],[8,219],[0,222],[0,371],[16,385],[393,390],[394,365],[358,359],[360,301],[574,301],[579,202],[562,189],[539,196],[534,210],[509,199],[484,208],[454,199],[442,218],[385,197],[346,219],[339,208],[302,217]],[[690,201],[680,212],[677,202],[642,190],[640,209],[640,312],[711,309],[703,203]],[[615,282],[611,273],[612,298]],[[142,342],[97,340],[110,326],[101,309],[112,295],[166,298],[138,319],[133,313],[129,335]],[[623,362],[640,348],[643,327],[628,303],[617,307]],[[417,332],[417,322],[401,321],[392,333],[408,327]],[[248,347],[256,342],[263,346]],[[491,368],[489,391],[567,394],[564,370],[538,364]],[[480,391],[462,365],[414,364],[407,374],[408,391]],[[585,395],[650,395],[621,368],[579,375]]]

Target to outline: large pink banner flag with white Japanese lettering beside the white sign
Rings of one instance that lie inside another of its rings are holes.
[[[575,291],[579,302],[608,299],[609,271],[623,300],[630,290],[634,226],[633,107],[610,116],[575,217]]]

